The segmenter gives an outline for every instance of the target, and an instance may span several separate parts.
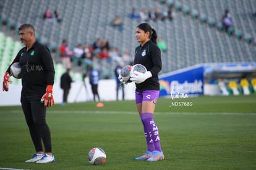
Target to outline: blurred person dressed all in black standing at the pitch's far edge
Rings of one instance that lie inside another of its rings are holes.
[[[70,69],[61,75],[61,88],[63,90],[63,100],[61,105],[65,106],[67,103],[67,96],[69,95],[69,90],[71,88],[72,79],[70,77]]]

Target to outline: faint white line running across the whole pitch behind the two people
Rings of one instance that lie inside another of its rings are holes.
[[[20,110],[12,111],[0,111],[1,113],[22,113]],[[48,114],[138,114],[137,112],[132,111],[47,111]],[[256,116],[256,113],[188,113],[188,112],[155,112],[154,114],[169,114],[169,115],[230,115],[230,116]]]

